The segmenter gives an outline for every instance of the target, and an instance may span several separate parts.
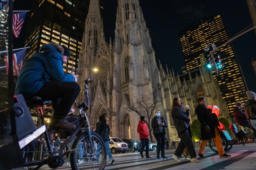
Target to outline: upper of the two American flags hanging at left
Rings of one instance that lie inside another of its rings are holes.
[[[12,18],[13,18],[12,32],[14,34],[14,37],[19,37],[20,29],[26,17],[26,13],[27,12],[22,12],[22,13],[17,13],[12,15]]]

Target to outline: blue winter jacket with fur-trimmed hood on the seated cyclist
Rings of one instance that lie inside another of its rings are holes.
[[[57,48],[44,44],[39,51],[46,50],[50,50],[48,55],[44,56],[40,52],[32,55],[20,71],[15,93],[22,94],[25,99],[33,96],[50,80],[75,82],[72,74],[64,73],[62,55]]]

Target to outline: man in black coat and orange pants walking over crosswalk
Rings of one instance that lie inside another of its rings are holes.
[[[216,144],[217,150],[219,152],[220,158],[229,158],[230,155],[227,155],[223,149],[222,142],[220,139],[220,134],[218,127],[220,126],[218,118],[215,114],[212,114],[206,107],[206,100],[203,96],[198,98],[198,105],[195,109],[195,115],[201,124],[201,145],[198,151],[198,156],[200,158],[205,158],[203,155],[204,148],[209,139],[213,138],[214,143]]]

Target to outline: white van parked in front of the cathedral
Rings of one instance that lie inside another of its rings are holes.
[[[109,137],[109,150],[111,153],[123,152],[128,150],[127,144],[118,137]]]

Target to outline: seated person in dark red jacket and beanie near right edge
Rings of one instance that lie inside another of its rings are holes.
[[[240,126],[252,129],[253,135],[256,137],[256,129],[251,125],[251,123],[247,119],[245,113],[241,110],[242,108],[243,108],[242,103],[241,102],[236,102],[236,106],[234,107],[234,110],[233,110],[236,122]]]

